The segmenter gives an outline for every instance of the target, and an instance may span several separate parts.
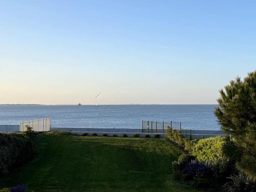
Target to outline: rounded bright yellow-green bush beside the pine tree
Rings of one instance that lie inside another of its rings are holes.
[[[206,139],[201,139],[193,147],[191,154],[196,156],[201,162],[226,162],[229,159],[223,152],[224,144],[225,138],[222,137],[209,137]]]

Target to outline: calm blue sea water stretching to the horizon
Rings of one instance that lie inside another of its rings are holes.
[[[141,128],[142,120],[179,121],[183,128],[219,130],[217,105],[0,105],[0,124],[51,118],[54,127]]]

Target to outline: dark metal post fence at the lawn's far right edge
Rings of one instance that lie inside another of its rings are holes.
[[[180,131],[181,135],[188,139],[204,139],[208,137],[221,136],[225,134],[222,131],[215,130],[190,130],[183,129],[181,122],[157,122],[157,121],[142,121],[142,133],[166,133],[167,127],[175,131]]]

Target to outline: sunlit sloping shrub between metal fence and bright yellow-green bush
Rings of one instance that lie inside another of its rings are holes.
[[[181,135],[180,131],[175,131],[170,127],[167,127],[166,137],[169,140],[176,143],[177,145],[179,145],[180,147],[182,147],[183,150],[185,150],[186,152],[191,151],[195,144],[195,141],[188,140],[187,138]]]

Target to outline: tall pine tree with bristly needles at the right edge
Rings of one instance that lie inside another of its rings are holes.
[[[238,77],[230,81],[224,89],[215,115],[221,129],[231,136],[232,149],[239,148],[232,155],[237,157],[239,169],[256,177],[256,71],[244,80]]]

